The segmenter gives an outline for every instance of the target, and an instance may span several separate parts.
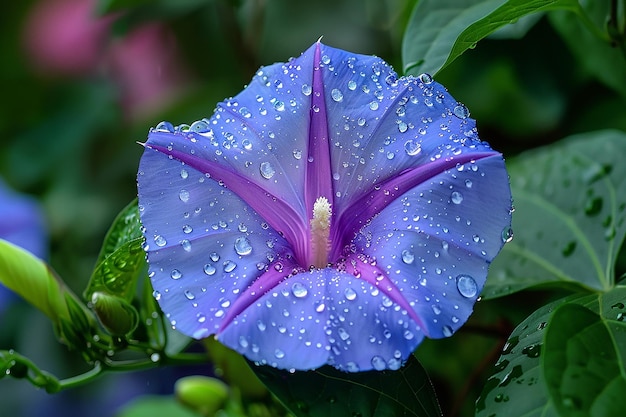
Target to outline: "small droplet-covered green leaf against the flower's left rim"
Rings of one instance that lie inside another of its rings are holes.
[[[91,300],[95,292],[101,292],[132,301],[139,277],[147,273],[142,245],[139,209],[134,200],[109,229],[84,297]]]

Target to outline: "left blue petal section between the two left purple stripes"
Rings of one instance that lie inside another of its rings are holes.
[[[241,198],[161,152],[146,148],[138,188],[155,296],[187,335],[215,333],[240,293],[290,254]]]

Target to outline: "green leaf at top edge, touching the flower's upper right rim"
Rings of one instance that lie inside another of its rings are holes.
[[[532,13],[578,11],[576,0],[422,0],[402,41],[406,74],[436,74],[497,29]]]

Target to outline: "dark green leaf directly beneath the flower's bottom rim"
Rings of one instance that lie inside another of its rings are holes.
[[[441,416],[428,375],[414,357],[397,371],[253,370],[296,417]]]

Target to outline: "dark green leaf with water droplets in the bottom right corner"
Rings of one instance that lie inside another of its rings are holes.
[[[624,358],[626,356],[626,324],[619,321],[619,315],[624,311],[620,300],[625,298],[626,287],[618,286],[607,293],[572,295],[536,310],[515,328],[505,344],[502,355],[496,362],[494,373],[486,382],[476,403],[476,417],[575,415],[570,414],[572,410],[566,412],[564,409],[578,404],[578,399],[583,400],[587,394],[581,395],[567,390],[577,389],[589,392],[594,390],[598,392],[598,390],[591,383],[568,380],[577,374],[575,372],[569,372],[565,376],[562,370],[559,371],[566,363],[564,353],[559,346],[567,344],[568,352],[574,356],[584,353],[589,347],[597,346],[598,349],[593,348],[593,351],[587,351],[584,358],[580,357],[576,361],[582,368],[588,363],[603,361],[605,355],[602,352],[615,346],[618,347],[617,354]],[[580,309],[585,310],[587,316],[597,316],[611,333],[614,342],[601,343],[605,346],[600,348],[598,343],[602,339],[594,333],[597,329],[586,333],[584,320],[581,321],[577,317]],[[573,316],[570,316],[571,313]],[[570,343],[570,339],[576,340]],[[573,344],[580,344],[580,346]],[[559,349],[561,349],[560,352]],[[623,359],[620,363],[624,363]],[[562,376],[558,381],[555,376],[557,372]],[[553,386],[550,387],[550,384]],[[607,388],[609,391],[607,398],[613,394],[613,388],[615,387]],[[569,395],[557,396],[554,390],[566,390]],[[498,402],[496,401],[498,396],[507,396],[509,401]],[[583,401],[581,404],[584,403]],[[615,403],[623,407],[621,401]],[[614,411],[611,406],[612,404],[608,403],[602,405],[604,409]],[[621,414],[623,413],[611,412],[602,415]],[[584,415],[595,414],[588,412]]]

